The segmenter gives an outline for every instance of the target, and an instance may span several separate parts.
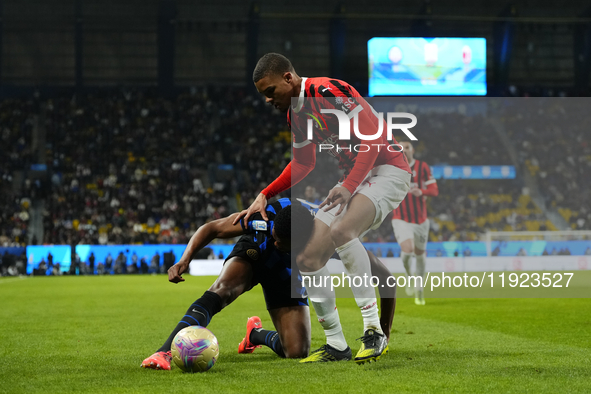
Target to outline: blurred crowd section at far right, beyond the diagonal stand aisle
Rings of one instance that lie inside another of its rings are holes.
[[[589,98],[536,100],[508,106],[507,130],[520,164],[538,182],[546,205],[573,230],[591,229],[591,114]],[[524,111],[524,106],[529,106]]]

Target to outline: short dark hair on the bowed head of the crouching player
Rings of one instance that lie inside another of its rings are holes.
[[[292,252],[306,246],[313,229],[314,217],[308,208],[297,201],[277,212],[275,216],[275,234],[281,239],[291,239]]]

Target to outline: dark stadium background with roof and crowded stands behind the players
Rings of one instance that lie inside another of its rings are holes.
[[[0,0],[2,275],[25,272],[28,245],[182,245],[248,206],[290,157],[285,115],[252,85],[258,58],[281,52],[300,75],[341,78],[365,94],[376,36],[486,38],[491,97],[590,92],[583,2]],[[430,130],[417,157],[513,165],[517,177],[439,181],[431,241],[591,229],[588,133],[517,132],[511,155],[477,138],[485,126],[475,122],[451,136]],[[539,154],[544,141],[552,154]],[[326,195],[326,182],[309,182]],[[538,203],[523,193],[528,182]],[[394,241],[385,223],[366,241]]]

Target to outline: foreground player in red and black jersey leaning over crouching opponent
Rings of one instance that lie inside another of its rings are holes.
[[[389,211],[406,196],[410,188],[406,157],[400,149],[392,149],[386,133],[380,133],[386,128],[385,122],[348,83],[332,78],[300,77],[291,62],[276,53],[259,60],[253,80],[267,103],[288,112],[293,159],[243,215],[246,218],[255,212],[264,215],[268,199],[289,189],[314,169],[316,148],[328,151],[338,159],[344,176],[320,205],[325,209],[316,214],[314,236],[298,255],[298,267],[304,283],[322,283],[323,279],[326,283],[330,277],[326,263],[336,250],[350,277],[370,276],[370,261],[359,237],[379,227]],[[292,98],[297,99],[293,105]],[[326,109],[333,111],[333,115],[324,112],[323,122],[317,122],[309,136],[309,120]],[[356,131],[350,139],[340,137],[341,122]],[[364,147],[354,148],[361,145]],[[303,362],[350,359],[351,349],[342,333],[334,290],[309,285],[306,288],[327,344]],[[387,349],[389,333],[380,328],[375,289],[353,286],[352,291],[364,322],[362,345],[355,361],[377,360]]]

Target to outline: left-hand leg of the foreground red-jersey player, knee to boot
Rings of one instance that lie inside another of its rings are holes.
[[[313,234],[314,236],[296,260],[304,284],[320,284],[324,278],[330,276],[330,272],[326,267],[328,259],[334,253],[330,228],[322,221],[314,220]],[[332,356],[335,358],[343,356],[339,352],[348,352],[350,354],[351,350],[343,335],[339,313],[336,308],[334,291],[331,291],[330,287],[321,286],[307,286],[306,291],[308,292],[308,299],[316,311],[318,322],[324,329],[327,345],[329,345],[328,351],[331,352],[334,349]],[[317,360],[318,357],[313,356],[311,355],[311,359],[308,361],[328,361]],[[306,360],[302,361],[307,362]]]

